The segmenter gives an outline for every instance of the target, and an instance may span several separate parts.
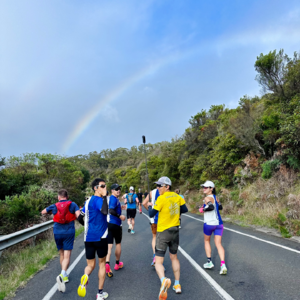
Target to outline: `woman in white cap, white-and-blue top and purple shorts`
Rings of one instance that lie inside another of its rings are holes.
[[[225,265],[225,250],[222,246],[222,234],[223,234],[223,221],[220,216],[219,210],[222,210],[222,204],[216,197],[215,185],[212,181],[206,181],[201,185],[204,194],[206,194],[203,200],[204,204],[199,209],[200,213],[204,213],[204,248],[207,256],[207,263],[203,265],[205,269],[212,269],[214,264],[211,261],[211,246],[210,237],[212,233],[215,236],[215,245],[218,249],[218,253],[221,259],[220,274],[226,275],[227,268]]]

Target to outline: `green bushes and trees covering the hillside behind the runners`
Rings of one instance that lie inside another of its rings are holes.
[[[168,176],[185,192],[191,209],[202,201],[200,184],[213,180],[223,214],[245,224],[300,235],[300,56],[283,50],[257,57],[261,97],[243,96],[235,109],[212,105],[191,117],[171,142],[146,144],[149,180]],[[24,154],[0,159],[0,226],[7,233],[40,220],[64,187],[78,204],[88,183],[102,177],[146,189],[143,145],[61,157]]]

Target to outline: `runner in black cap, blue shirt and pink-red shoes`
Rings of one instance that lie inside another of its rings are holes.
[[[113,272],[110,268],[110,256],[111,250],[114,243],[114,239],[116,242],[116,264],[114,269],[118,271],[119,269],[123,268],[123,263],[120,261],[121,257],[121,241],[122,241],[122,221],[125,221],[125,216],[122,216],[122,209],[126,209],[126,205],[120,204],[119,196],[121,194],[121,186],[117,183],[114,183],[111,186],[111,196],[109,197],[109,205],[108,205],[108,212],[109,212],[109,221],[108,221],[108,253],[106,256],[106,275],[110,278],[113,276]]]

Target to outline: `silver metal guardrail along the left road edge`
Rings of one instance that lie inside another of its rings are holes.
[[[16,245],[22,241],[25,241],[30,238],[34,238],[39,234],[42,233],[50,228],[52,228],[54,225],[53,220],[47,221],[41,224],[34,225],[30,228],[20,230],[11,234],[2,235],[0,236],[0,256],[2,254],[2,251],[4,249],[7,249],[13,245]]]

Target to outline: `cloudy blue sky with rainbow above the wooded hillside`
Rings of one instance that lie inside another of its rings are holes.
[[[293,0],[1,0],[0,155],[170,141],[261,95],[256,57],[299,41]]]

